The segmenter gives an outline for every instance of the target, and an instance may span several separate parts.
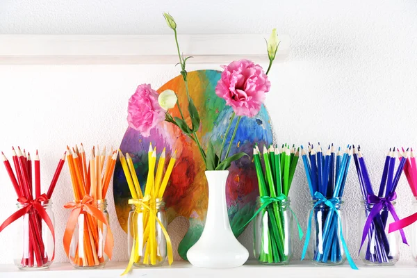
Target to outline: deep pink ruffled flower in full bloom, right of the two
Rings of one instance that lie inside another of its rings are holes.
[[[270,90],[268,76],[260,65],[250,60],[238,60],[222,67],[224,71],[215,94],[222,97],[236,115],[254,117],[261,110],[265,93]]]

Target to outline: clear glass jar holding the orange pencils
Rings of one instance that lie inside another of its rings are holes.
[[[106,199],[94,204],[110,222]],[[70,245],[70,262],[75,268],[104,268],[108,256],[104,252],[108,227],[84,209],[79,215]]]

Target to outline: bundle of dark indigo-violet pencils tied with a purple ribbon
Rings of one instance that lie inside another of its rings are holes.
[[[365,227],[363,227],[361,241],[362,247],[363,243],[366,241],[366,238],[368,238],[365,260],[370,263],[389,263],[391,260],[393,260],[393,250],[390,248],[390,240],[387,237],[388,233],[386,232],[386,222],[388,219],[389,211],[391,213],[394,211],[393,218],[397,218],[395,214],[395,208],[391,202],[395,200],[395,189],[397,188],[398,182],[400,181],[402,170],[404,169],[406,162],[409,161],[408,152],[404,152],[404,149],[403,152],[398,150],[397,155],[400,158],[400,163],[397,167],[397,170],[395,171],[395,148],[389,149],[389,152],[385,158],[384,170],[382,172],[382,179],[379,185],[379,190],[377,195],[375,195],[372,183],[370,182],[370,176],[366,168],[365,160],[360,151],[360,147],[357,149],[353,147],[353,149],[354,163],[357,168],[359,185],[361,186],[361,193],[367,217],[367,223],[365,224]],[[411,158],[411,161],[412,160],[413,159]],[[416,164],[414,164],[414,166],[415,165]],[[411,163],[409,166],[411,166]],[[407,173],[409,173],[408,170],[409,168],[407,168]],[[402,230],[400,230],[400,233],[404,241],[405,236],[403,235]],[[395,248],[397,247],[395,246]]]

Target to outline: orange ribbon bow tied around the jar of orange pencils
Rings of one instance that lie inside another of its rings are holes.
[[[92,217],[97,218],[100,222],[103,222],[107,226],[107,236],[106,243],[104,246],[104,252],[107,254],[108,258],[111,259],[113,252],[113,234],[111,233],[110,225],[107,222],[106,216],[102,211],[92,205],[92,197],[90,195],[84,195],[81,201],[76,200],[75,202],[68,202],[65,204],[64,208],[72,208],[70,218],[67,222],[67,227],[65,227],[65,233],[63,238],[64,250],[67,254],[67,257],[70,258],[70,245],[72,240],[72,235],[74,234],[76,223],[78,222],[79,215],[81,211],[85,211]]]

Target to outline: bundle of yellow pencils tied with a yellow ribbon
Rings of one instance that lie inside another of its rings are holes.
[[[133,236],[131,261],[129,261],[129,265],[123,274],[129,272],[133,263],[158,265],[166,259],[160,255],[165,253],[165,250],[158,250],[158,229],[165,231],[165,227],[157,227],[157,224],[161,225],[161,222],[158,222],[156,219],[156,204],[161,202],[163,194],[165,193],[172,169],[174,168],[175,161],[177,160],[176,153],[177,152],[174,152],[174,154],[172,154],[170,162],[165,170],[165,148],[163,149],[161,156],[159,156],[158,163],[156,163],[156,147],[153,149],[152,143],[149,144],[149,168],[145,184],[145,192],[142,193],[138,175],[136,174],[131,156],[126,153],[126,157],[124,157],[122,152],[119,152],[120,163],[122,164],[123,172],[132,196],[129,204],[136,206],[136,211],[131,218],[132,223],[129,223],[129,225],[134,227],[133,235],[130,235]],[[165,234],[165,238],[166,237],[167,234]],[[170,259],[172,258],[172,246],[170,245],[170,240],[168,238],[167,245],[168,259]],[[170,259],[170,263],[172,263],[172,259]]]

